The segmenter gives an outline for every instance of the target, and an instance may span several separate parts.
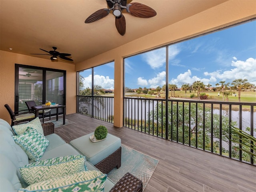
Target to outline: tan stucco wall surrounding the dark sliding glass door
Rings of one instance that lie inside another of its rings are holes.
[[[14,110],[14,68],[15,64],[39,66],[66,70],[66,114],[76,112],[76,72],[74,64],[52,62],[50,59],[0,51],[0,118],[11,122],[4,104]]]

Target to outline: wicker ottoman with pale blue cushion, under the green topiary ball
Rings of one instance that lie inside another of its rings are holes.
[[[113,168],[121,166],[121,139],[109,134],[106,140],[92,142],[93,133],[76,138],[70,144],[86,156],[86,160],[98,168],[102,173],[108,174]]]

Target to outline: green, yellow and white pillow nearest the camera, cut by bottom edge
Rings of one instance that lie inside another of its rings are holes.
[[[106,178],[107,175],[100,171],[89,170],[38,182],[18,192],[103,192]]]

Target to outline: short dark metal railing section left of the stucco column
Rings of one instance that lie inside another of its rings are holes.
[[[114,97],[76,96],[77,113],[113,123]]]

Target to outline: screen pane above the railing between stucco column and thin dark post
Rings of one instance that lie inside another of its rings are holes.
[[[155,95],[156,98],[159,98],[160,94],[158,96],[156,88],[160,87],[162,89],[166,84],[166,48],[159,48],[125,58],[124,71],[126,93],[137,92],[141,97]],[[160,97],[164,98],[163,95]]]

